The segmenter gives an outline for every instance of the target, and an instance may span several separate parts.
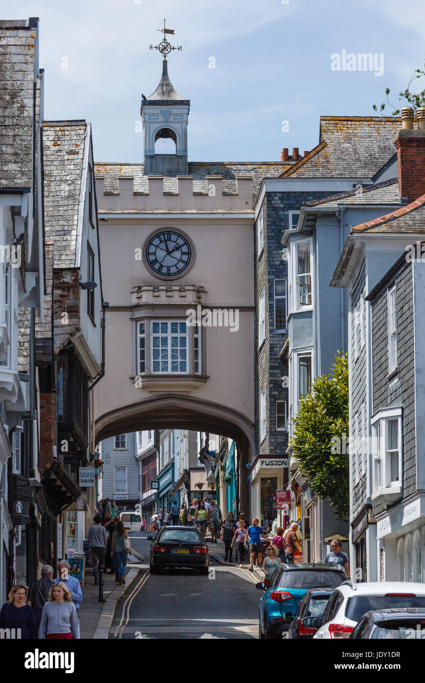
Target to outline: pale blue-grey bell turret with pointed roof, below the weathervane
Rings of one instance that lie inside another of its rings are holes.
[[[156,91],[148,98],[142,96],[144,176],[188,176],[190,100],[185,100],[175,90],[167,64],[164,59]],[[164,141],[169,143],[166,147],[161,145]]]

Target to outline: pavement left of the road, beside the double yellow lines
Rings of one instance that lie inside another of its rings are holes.
[[[123,594],[128,591],[138,576],[138,567],[127,566],[126,585],[115,583],[115,572],[104,574],[103,596],[106,602],[98,602],[99,586],[94,585],[93,570],[87,567],[83,602],[78,609],[81,639],[107,639],[113,622],[115,609]]]

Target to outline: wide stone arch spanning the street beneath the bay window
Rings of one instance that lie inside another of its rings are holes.
[[[254,459],[254,425],[242,413],[217,403],[161,394],[115,408],[96,420],[96,443],[104,438],[150,429],[184,429],[229,436],[240,454],[239,506],[248,508],[248,470]]]

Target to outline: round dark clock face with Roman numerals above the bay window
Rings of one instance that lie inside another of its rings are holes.
[[[160,277],[178,277],[192,260],[188,238],[173,229],[154,234],[145,247],[147,265]]]

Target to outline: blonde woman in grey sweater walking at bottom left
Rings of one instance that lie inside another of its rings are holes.
[[[39,639],[72,639],[80,637],[80,624],[72,594],[62,581],[50,588],[38,629]]]

